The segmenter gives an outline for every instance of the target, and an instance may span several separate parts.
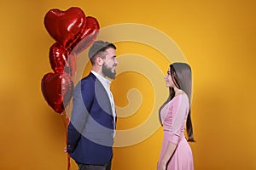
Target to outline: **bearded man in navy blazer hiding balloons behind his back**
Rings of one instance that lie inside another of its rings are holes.
[[[79,170],[110,170],[116,114],[110,81],[118,65],[113,43],[96,41],[89,50],[92,70],[74,89],[67,152]]]

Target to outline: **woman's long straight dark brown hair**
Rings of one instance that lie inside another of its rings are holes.
[[[193,127],[192,127],[192,121],[191,121],[191,111],[190,111],[190,103],[191,103],[191,87],[192,87],[192,78],[191,78],[191,68],[186,63],[173,63],[170,65],[170,72],[172,81],[174,82],[175,86],[181,90],[189,97],[189,114],[187,117],[186,122],[186,129],[188,134],[188,141],[189,142],[195,142],[194,136],[193,136]],[[171,101],[175,96],[174,88],[169,88],[169,96],[166,99],[166,102],[161,105],[160,111],[163,109],[163,107]],[[161,122],[161,119],[160,119]],[[161,122],[162,123],[162,122]]]

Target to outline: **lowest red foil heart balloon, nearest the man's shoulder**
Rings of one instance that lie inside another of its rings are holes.
[[[49,72],[42,78],[41,90],[48,105],[61,113],[72,98],[73,81],[66,73]]]

